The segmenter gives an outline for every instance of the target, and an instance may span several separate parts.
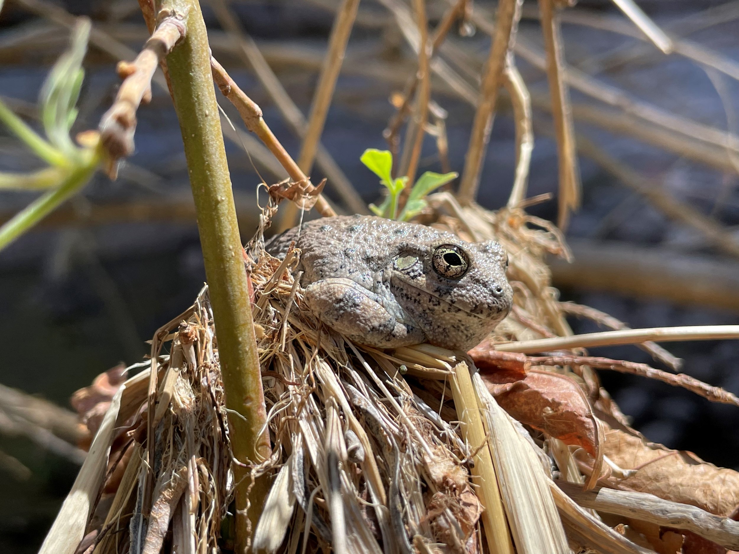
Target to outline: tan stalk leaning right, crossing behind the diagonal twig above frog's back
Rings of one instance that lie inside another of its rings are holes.
[[[310,175],[310,171],[313,169],[313,161],[316,159],[319,140],[321,134],[323,134],[326,116],[333,99],[338,73],[341,71],[341,64],[344,62],[344,53],[347,50],[347,42],[349,41],[349,35],[352,33],[352,27],[354,27],[358,7],[359,0],[343,0],[336,10],[336,19],[333,22],[328,41],[328,51],[321,68],[321,76],[316,92],[313,95],[313,103],[310,105],[307,128],[298,155],[298,166],[307,175]],[[316,205],[316,208],[318,208],[318,205]],[[278,231],[293,227],[297,215],[298,206],[295,203],[286,205],[279,221]]]

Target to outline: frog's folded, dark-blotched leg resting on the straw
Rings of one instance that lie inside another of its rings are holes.
[[[322,279],[305,288],[307,307],[324,324],[352,341],[398,348],[426,340],[418,327],[398,321],[383,305],[383,299],[351,279]]]

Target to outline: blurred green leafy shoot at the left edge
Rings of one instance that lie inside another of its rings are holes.
[[[77,118],[89,33],[89,20],[80,18],[72,31],[69,49],[54,64],[41,87],[38,102],[45,139],[0,100],[0,121],[48,164],[30,173],[0,172],[0,189],[46,191],[0,227],[0,250],[80,191],[103,160],[97,134],[82,134],[78,137],[79,146],[69,136]]]

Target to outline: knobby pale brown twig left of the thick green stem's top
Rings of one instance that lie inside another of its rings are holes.
[[[136,110],[140,103],[151,100],[151,79],[160,62],[185,36],[185,18],[186,13],[163,18],[136,59],[130,64],[118,63],[118,75],[123,83],[115,102],[100,121],[101,140],[112,160],[133,154]]]

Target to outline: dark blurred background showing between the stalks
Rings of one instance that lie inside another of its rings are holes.
[[[658,24],[680,30],[691,44],[715,53],[729,69],[739,59],[738,2],[653,0],[638,4]],[[75,0],[55,5],[92,17],[95,25],[134,50],[146,38],[135,1]],[[304,114],[316,86],[335,5],[333,0],[231,2]],[[490,8],[493,4],[478,0],[476,5]],[[432,24],[445,6],[429,1]],[[262,106],[276,136],[296,155],[299,141],[229,47],[208,3],[203,2],[203,7],[213,30],[214,54]],[[525,8],[520,35],[540,48],[538,23],[528,17],[535,13],[536,3],[527,1]],[[573,13],[587,13],[606,24],[615,19],[628,24],[607,1],[580,1]],[[704,24],[686,30],[680,27],[685,21]],[[716,129],[736,130],[737,83],[726,73],[706,69],[685,56],[662,55],[644,41],[588,25],[565,22],[563,34],[568,63],[596,75],[602,83]],[[471,60],[478,64],[484,60],[489,44],[484,33],[478,31],[470,38],[452,35],[449,41],[465,49]],[[67,29],[38,17],[22,2],[6,2],[0,15],[0,95],[31,120],[38,89],[67,37]],[[628,55],[635,45],[641,49]],[[521,58],[518,64],[531,92],[546,92],[545,75]],[[365,148],[386,148],[382,131],[395,112],[388,98],[402,89],[414,67],[415,58],[389,12],[375,1],[364,1],[322,143],[366,202],[378,199],[379,188],[359,157]],[[78,131],[97,127],[120,83],[115,61],[95,47],[89,49],[86,69],[81,115],[75,126]],[[572,97],[576,103],[597,105],[577,91]],[[443,87],[435,89],[433,98],[448,112],[449,163],[452,170],[460,171],[474,112]],[[240,127],[226,104],[225,111]],[[549,116],[537,110],[534,116],[537,133],[529,196],[556,193],[557,188],[556,148],[547,136]],[[99,373],[119,362],[140,360],[147,352],[144,341],[188,307],[202,287],[205,275],[188,208],[185,158],[168,94],[155,88],[153,100],[140,109],[138,117],[137,152],[121,168],[117,181],[95,177],[84,194],[0,253],[0,383],[68,407],[72,392]],[[576,120],[576,126],[613,159],[648,179],[654,190],[713,218],[724,226],[726,236],[739,240],[739,169],[701,163],[695,156],[681,156],[650,140],[587,121]],[[486,208],[500,208],[508,198],[514,171],[513,137],[513,120],[508,108],[501,106],[479,196]],[[256,156],[250,157],[251,146],[247,145],[247,152],[238,141],[228,142],[227,148],[243,238],[248,239],[255,226],[253,206],[260,182],[253,165]],[[267,182],[279,180],[258,160],[254,163]],[[3,171],[25,171],[34,164],[16,140],[7,134],[0,136]],[[441,170],[428,137],[420,169]],[[582,208],[567,233],[577,260],[570,267],[555,266],[555,285],[562,290],[562,299],[588,304],[633,327],[739,324],[737,259],[716,248],[705,233],[676,221],[602,165],[582,157],[581,171]],[[316,169],[312,177],[316,182],[323,175]],[[330,184],[327,192],[338,202]],[[31,198],[1,193],[0,217],[7,219]],[[530,211],[555,219],[556,200]],[[640,283],[635,280],[637,273],[664,287]],[[704,291],[699,298],[692,294],[696,290]],[[599,330],[586,321],[571,323],[576,332]],[[684,358],[684,372],[739,393],[736,342],[666,346]],[[631,346],[593,349],[593,353],[652,363]],[[739,424],[739,409],[712,404],[650,380],[609,372],[602,372],[601,377],[624,413],[633,417],[634,426],[650,440],[739,469],[739,435],[733,432]],[[26,437],[2,432],[0,453],[0,551],[35,552],[78,466]],[[13,460],[30,473],[3,473]]]

